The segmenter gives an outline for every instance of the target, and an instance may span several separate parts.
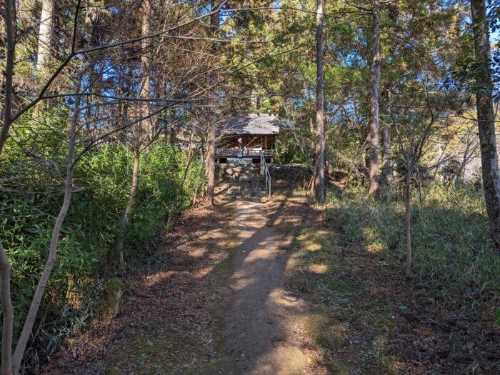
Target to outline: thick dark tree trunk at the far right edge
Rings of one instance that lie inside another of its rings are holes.
[[[481,146],[481,166],[484,199],[489,217],[491,236],[500,250],[500,171],[493,110],[493,81],[491,79],[491,46],[486,22],[484,0],[471,0],[472,30],[476,64],[476,109]]]

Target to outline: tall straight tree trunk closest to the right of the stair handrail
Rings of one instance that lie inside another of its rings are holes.
[[[325,199],[324,164],[324,79],[323,79],[323,0],[317,1],[316,10],[316,199]]]

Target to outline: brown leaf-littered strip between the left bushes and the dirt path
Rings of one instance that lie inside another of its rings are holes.
[[[193,373],[203,364],[216,331],[207,311],[221,301],[214,281],[227,276],[224,260],[235,241],[226,218],[218,209],[183,214],[159,250],[131,267],[125,279],[131,291],[119,316],[91,328],[84,346],[64,357],[63,373],[96,362],[110,374]],[[86,373],[96,373],[92,368]]]

